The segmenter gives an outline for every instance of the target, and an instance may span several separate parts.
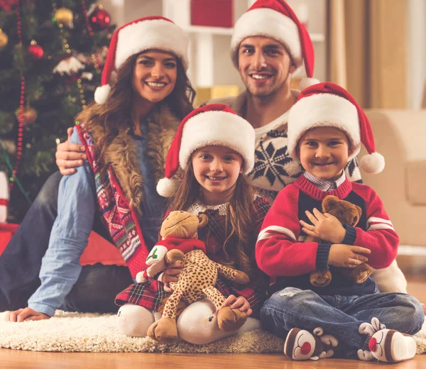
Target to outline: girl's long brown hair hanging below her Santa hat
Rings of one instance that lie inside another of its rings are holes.
[[[170,199],[170,211],[187,210],[197,199],[200,199],[201,190],[201,185],[195,179],[190,160],[183,172],[182,183],[178,191]],[[226,213],[223,246],[226,259],[222,260],[222,263],[249,275],[256,265],[253,250],[253,242],[256,242],[256,240],[251,238],[253,234],[250,219],[252,201],[253,188],[247,182],[246,176],[240,174],[236,180],[234,193],[229,200]]]

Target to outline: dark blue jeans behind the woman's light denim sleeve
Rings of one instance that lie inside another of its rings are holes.
[[[58,187],[62,175],[56,172],[45,182],[23,219],[21,226],[0,255],[0,312],[26,307],[29,297],[40,286],[38,273],[49,245],[50,231],[58,214]],[[108,241],[100,216],[93,230]],[[131,284],[126,267],[86,265],[62,309],[81,312],[116,312],[117,293]]]

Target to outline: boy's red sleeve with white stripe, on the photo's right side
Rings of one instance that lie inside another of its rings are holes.
[[[368,264],[375,269],[387,268],[396,258],[399,237],[378,194],[363,186],[359,194],[366,199],[366,231],[356,227],[355,245],[371,250]]]

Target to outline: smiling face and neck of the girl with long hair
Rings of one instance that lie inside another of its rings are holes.
[[[205,146],[191,155],[195,179],[202,187],[206,204],[223,204],[229,201],[240,173],[243,158],[224,146]]]

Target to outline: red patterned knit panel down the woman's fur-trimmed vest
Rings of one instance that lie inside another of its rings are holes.
[[[138,223],[138,216],[135,209],[129,206],[111,167],[108,168],[108,180],[102,181],[100,167],[94,155],[93,139],[81,126],[77,126],[77,131],[86,148],[87,160],[94,173],[97,202],[102,220],[134,278],[145,267],[145,260],[149,253]]]

